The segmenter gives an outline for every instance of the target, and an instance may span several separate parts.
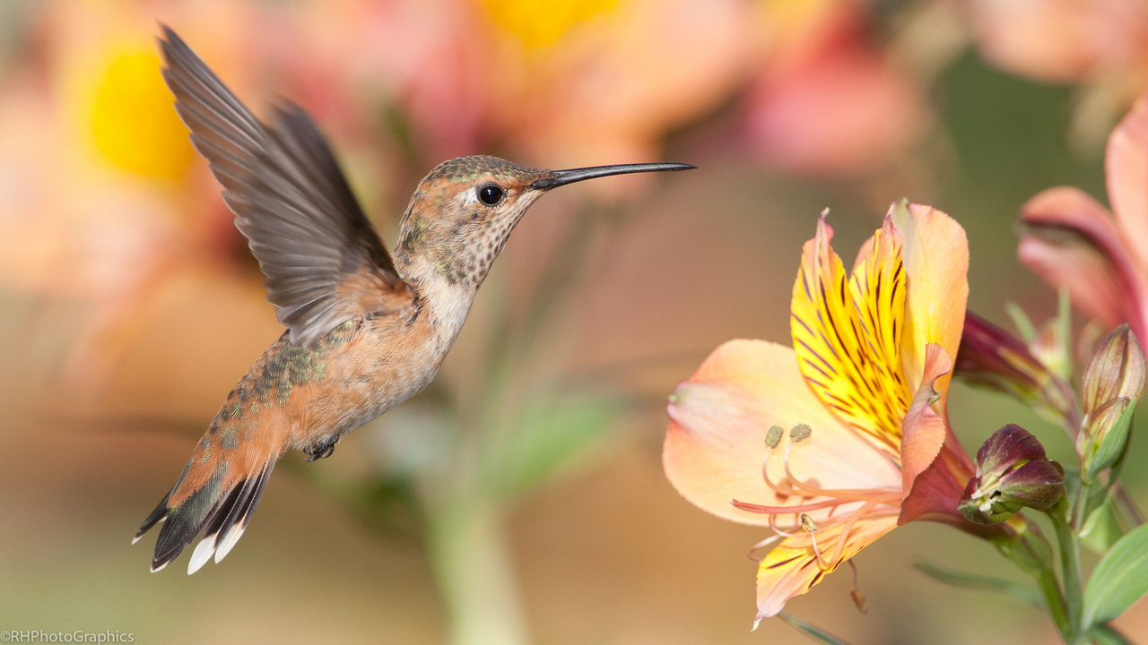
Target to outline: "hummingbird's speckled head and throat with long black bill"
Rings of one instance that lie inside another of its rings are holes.
[[[457,157],[419,182],[403,216],[398,248],[408,258],[430,261],[450,283],[478,287],[527,209],[551,188],[610,174],[691,168],[647,163],[542,170],[488,155]]]

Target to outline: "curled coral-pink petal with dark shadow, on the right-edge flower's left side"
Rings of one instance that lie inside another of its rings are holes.
[[[1104,207],[1077,188],[1049,188],[1021,207],[1021,262],[1088,317],[1145,331],[1145,277]]]

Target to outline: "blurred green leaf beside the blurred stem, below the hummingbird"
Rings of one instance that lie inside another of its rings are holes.
[[[582,396],[550,399],[520,412],[513,441],[494,473],[507,494],[533,489],[582,453],[606,429],[622,405],[616,398]]]

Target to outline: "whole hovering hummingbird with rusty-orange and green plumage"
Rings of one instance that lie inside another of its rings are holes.
[[[239,380],[134,544],[163,522],[152,570],[202,531],[187,573],[235,546],[288,450],[329,457],[346,433],[434,379],[491,263],[548,191],[687,170],[639,163],[542,170],[487,156],[435,166],[388,254],[318,127],[298,106],[259,121],[168,26],[163,79],[266,280],[286,332]]]

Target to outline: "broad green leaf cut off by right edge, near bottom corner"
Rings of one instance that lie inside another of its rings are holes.
[[[1108,622],[1148,593],[1148,524],[1117,539],[1084,588],[1084,624]]]

